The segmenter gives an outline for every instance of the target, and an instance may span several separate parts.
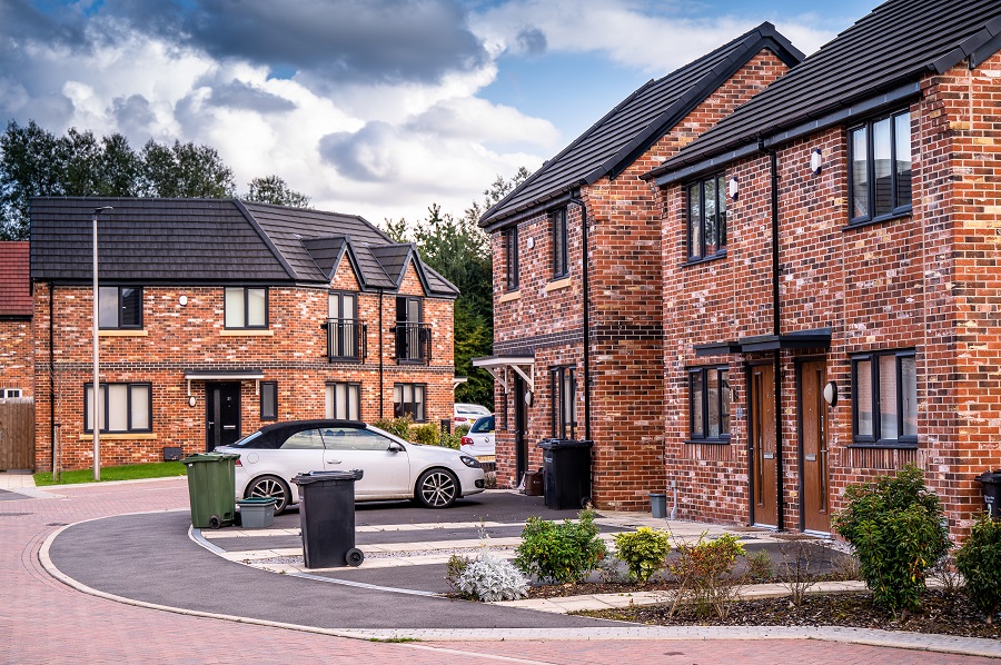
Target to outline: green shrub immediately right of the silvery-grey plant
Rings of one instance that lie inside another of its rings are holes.
[[[526,575],[558,584],[583,582],[604,558],[605,544],[598,538],[594,513],[582,510],[579,522],[556,524],[529,517],[522,532],[515,566]]]

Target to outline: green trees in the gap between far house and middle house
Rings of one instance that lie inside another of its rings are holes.
[[[490,406],[494,381],[489,373],[475,369],[472,359],[488,356],[494,345],[493,260],[490,238],[479,228],[487,208],[528,177],[525,167],[511,179],[497,176],[460,217],[443,214],[432,204],[425,219],[385,220],[386,232],[398,242],[414,242],[425,264],[458,287],[455,302],[455,370],[468,381],[455,389],[455,400]]]

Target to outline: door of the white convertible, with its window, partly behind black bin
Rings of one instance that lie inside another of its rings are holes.
[[[410,463],[406,449],[385,436],[357,427],[324,427],[324,468],[361,469],[355,483],[358,498],[397,498],[414,494]]]

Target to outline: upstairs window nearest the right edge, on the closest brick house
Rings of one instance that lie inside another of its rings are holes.
[[[911,210],[911,113],[870,120],[849,131],[851,224]]]

